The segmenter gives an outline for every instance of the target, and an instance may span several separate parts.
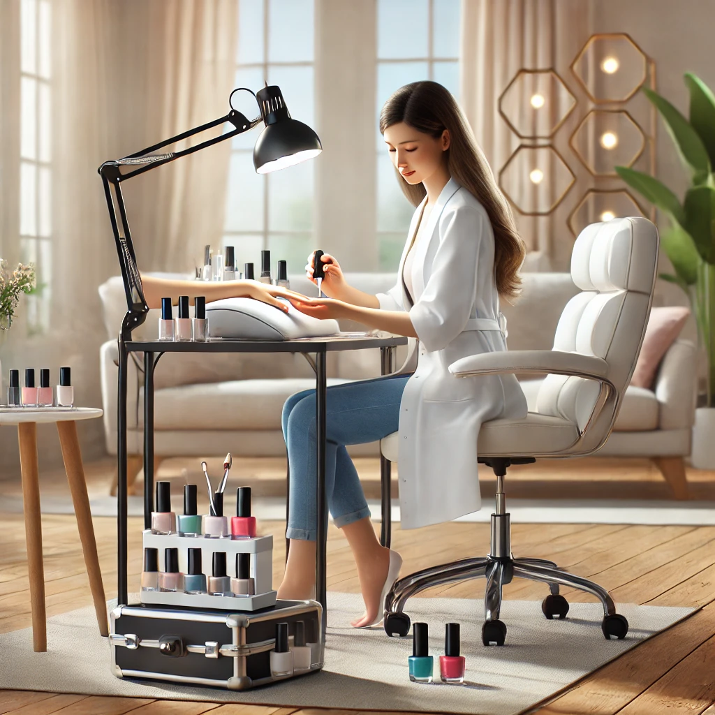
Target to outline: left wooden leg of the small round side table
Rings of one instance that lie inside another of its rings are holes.
[[[44,568],[42,566],[42,522],[40,516],[40,485],[37,473],[37,425],[25,422],[17,425],[22,474],[22,502],[25,512],[27,572],[30,581],[32,609],[32,649],[47,650],[47,622],[44,602]]]

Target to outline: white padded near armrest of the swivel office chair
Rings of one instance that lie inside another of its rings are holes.
[[[498,350],[483,352],[460,358],[449,366],[456,378],[470,378],[473,375],[495,375],[498,373],[553,373],[556,375],[577,375],[599,382],[606,380],[608,363],[593,355],[565,350]],[[610,383],[609,383],[610,384]]]

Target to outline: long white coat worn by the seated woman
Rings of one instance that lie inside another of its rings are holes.
[[[402,528],[450,521],[481,506],[477,450],[481,424],[524,418],[514,375],[455,378],[455,360],[506,350],[506,319],[494,279],[494,234],[487,212],[454,179],[445,185],[415,247],[412,283],[403,280],[423,204],[405,243],[398,283],[379,293],[383,310],[407,310],[418,339],[398,373],[413,373],[400,404],[398,470]]]

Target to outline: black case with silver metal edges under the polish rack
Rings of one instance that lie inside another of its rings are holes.
[[[319,671],[322,608],[317,601],[277,601],[260,611],[199,610],[159,605],[117,606],[111,613],[112,673],[174,683],[245,690]],[[270,651],[276,623],[305,623],[310,669],[274,677]]]

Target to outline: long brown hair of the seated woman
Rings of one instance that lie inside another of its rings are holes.
[[[450,148],[445,151],[448,171],[486,209],[494,231],[496,289],[500,296],[516,297],[526,248],[516,231],[511,209],[454,97],[437,82],[405,84],[385,102],[380,112],[380,133],[385,134],[385,129],[400,122],[435,139],[448,129],[451,139]],[[408,184],[397,169],[395,173],[405,196],[413,206],[418,206],[426,193],[423,184]]]

